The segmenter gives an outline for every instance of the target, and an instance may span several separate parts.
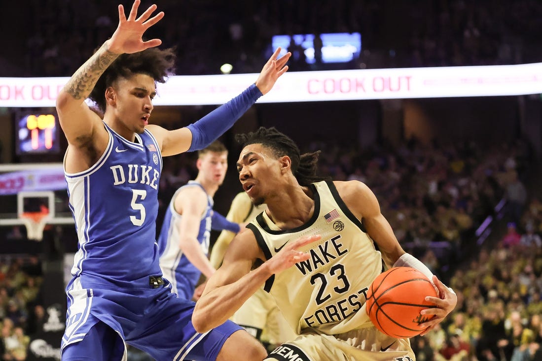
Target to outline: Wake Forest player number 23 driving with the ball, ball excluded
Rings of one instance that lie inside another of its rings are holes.
[[[196,304],[195,329],[222,323],[264,285],[299,333],[267,360],[414,360],[408,339],[379,332],[365,312],[366,291],[382,261],[417,268],[438,289],[440,297],[426,298],[437,307],[421,311],[435,314],[422,324],[424,333],[454,309],[453,291],[403,251],[364,183],[320,181],[318,152],[300,155],[274,128],[237,140],[244,146],[237,162],[243,189],[268,209],[231,242]],[[264,262],[251,271],[256,260]]]

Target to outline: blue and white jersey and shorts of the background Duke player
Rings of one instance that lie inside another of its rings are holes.
[[[160,268],[162,268],[164,277],[171,282],[172,291],[177,293],[180,298],[192,299],[201,272],[192,265],[179,248],[180,233],[182,232],[179,225],[182,215],[177,213],[175,207],[173,207],[178,193],[186,187],[201,187],[205,192],[203,186],[196,181],[189,181],[188,184],[177,189],[167,207],[164,223],[158,237],[158,249],[160,252]],[[197,237],[202,251],[206,255],[209,253],[212,206],[213,200],[207,195],[207,207],[199,222]]]

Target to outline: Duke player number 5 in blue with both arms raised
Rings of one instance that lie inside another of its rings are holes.
[[[79,251],[67,287],[62,360],[125,360],[126,343],[156,360],[261,360],[266,351],[241,327],[221,323],[197,333],[194,303],[163,280],[155,241],[162,156],[202,149],[217,139],[287,70],[278,52],[256,83],[186,128],[149,124],[156,82],[173,67],[173,51],[143,33],[163,12],[143,14],[139,0],[111,39],[83,64],[56,102],[68,140],[64,170]],[[152,16],[152,17],[151,17]],[[90,97],[104,111],[88,108]],[[235,355],[235,356],[234,356]]]

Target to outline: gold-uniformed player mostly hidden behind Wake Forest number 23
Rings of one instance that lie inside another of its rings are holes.
[[[267,208],[266,205],[254,205],[247,193],[238,193],[231,202],[226,218],[232,222],[246,223],[251,221]],[[211,250],[211,265],[220,267],[224,253],[235,233],[224,230],[218,236]],[[202,288],[203,291],[203,288]],[[201,296],[201,294],[199,295]],[[249,333],[259,339],[266,347],[274,349],[277,345],[293,339],[296,334],[288,325],[284,316],[276,306],[275,299],[261,287],[251,296],[231,320],[243,326]]]

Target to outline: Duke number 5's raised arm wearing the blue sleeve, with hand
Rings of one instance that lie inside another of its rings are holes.
[[[256,82],[234,99],[211,111],[202,119],[190,124],[188,127],[176,130],[166,130],[158,126],[148,126],[160,142],[163,156],[190,152],[207,147],[218,139],[226,130],[243,115],[263,94],[268,93],[275,85],[276,80],[288,70],[286,62],[292,55],[278,58],[280,48],[269,58],[264,65]]]

